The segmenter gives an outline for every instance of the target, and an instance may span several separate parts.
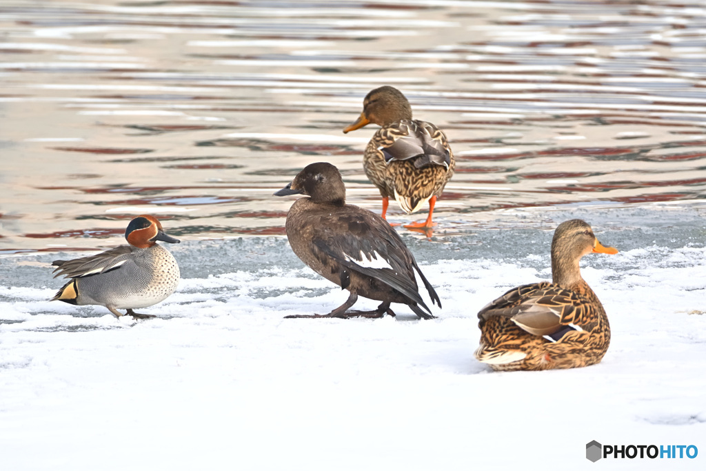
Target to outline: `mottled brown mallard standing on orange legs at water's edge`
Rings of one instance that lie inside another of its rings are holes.
[[[431,123],[412,119],[412,107],[400,90],[385,85],[363,100],[363,112],[344,133],[373,123],[382,126],[368,143],[363,168],[383,197],[383,219],[389,198],[395,198],[407,214],[429,201],[425,222],[408,228],[429,229],[436,198],[453,175],[455,160],[446,136]]]

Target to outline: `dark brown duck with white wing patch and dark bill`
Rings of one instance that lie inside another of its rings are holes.
[[[287,213],[287,239],[294,254],[350,296],[323,316],[288,317],[394,316],[390,304],[396,302],[407,304],[420,318],[434,318],[419,295],[414,270],[432,304],[441,307],[441,301],[414,256],[382,217],[346,204],[346,189],[336,167],[326,162],[307,165],[275,196],[292,194],[309,196],[294,201]],[[359,295],[382,304],[375,311],[347,312]]]

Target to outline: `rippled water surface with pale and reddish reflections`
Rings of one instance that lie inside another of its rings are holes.
[[[383,84],[457,157],[436,234],[508,208],[702,208],[705,31],[694,0],[6,0],[0,252],[102,246],[140,213],[184,239],[284,234],[272,193],[319,160],[379,212],[375,126],[342,129]]]

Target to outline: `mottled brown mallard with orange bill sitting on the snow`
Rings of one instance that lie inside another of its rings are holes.
[[[478,313],[475,357],[496,371],[577,368],[601,361],[611,329],[601,302],[581,278],[579,261],[604,247],[580,219],[562,222],[551,241],[553,282],[524,285]]]

